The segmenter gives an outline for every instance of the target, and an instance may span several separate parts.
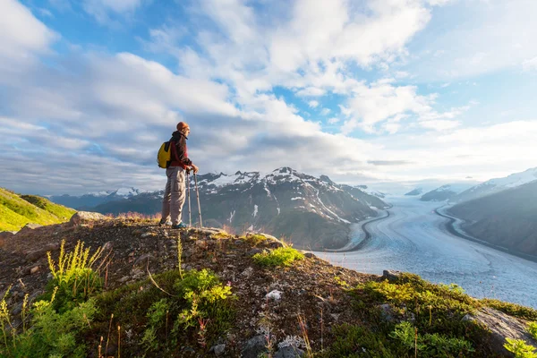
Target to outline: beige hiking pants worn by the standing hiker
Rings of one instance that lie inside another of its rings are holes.
[[[170,166],[166,169],[167,183],[162,200],[162,220],[172,219],[172,225],[181,223],[186,190],[184,188],[184,169],[181,166]]]

